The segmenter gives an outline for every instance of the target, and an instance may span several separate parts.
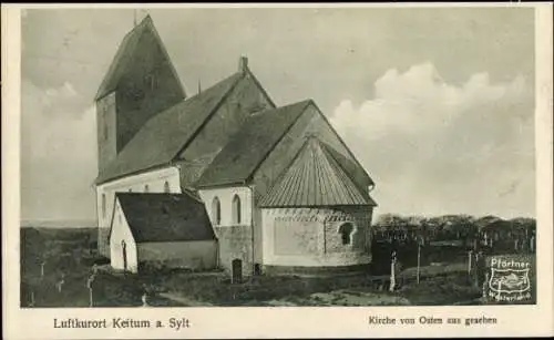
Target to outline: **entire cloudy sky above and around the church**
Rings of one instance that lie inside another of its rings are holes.
[[[22,13],[21,214],[93,219],[93,97],[150,13],[188,94],[238,58],[312,99],[376,182],[377,215],[535,215],[533,9],[33,9]]]

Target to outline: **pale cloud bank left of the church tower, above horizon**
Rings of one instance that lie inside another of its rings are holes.
[[[72,84],[22,82],[21,195],[24,218],[93,216],[95,111]],[[48,208],[45,208],[48,203]]]

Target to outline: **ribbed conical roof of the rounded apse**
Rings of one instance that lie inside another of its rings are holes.
[[[260,207],[376,206],[326,150],[315,136],[308,137]]]

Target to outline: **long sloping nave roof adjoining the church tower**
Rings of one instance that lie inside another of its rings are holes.
[[[96,184],[170,164],[244,76],[237,72],[154,115],[96,178]]]

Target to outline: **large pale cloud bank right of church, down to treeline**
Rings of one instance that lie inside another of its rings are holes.
[[[388,70],[375,99],[340,102],[331,123],[376,178],[382,212],[532,215],[533,113],[523,76],[450,84],[422,63]]]

